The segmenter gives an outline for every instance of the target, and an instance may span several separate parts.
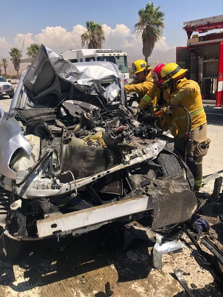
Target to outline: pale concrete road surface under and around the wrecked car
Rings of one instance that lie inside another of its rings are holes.
[[[0,100],[5,111],[10,103],[11,99],[6,97]],[[203,159],[203,175],[223,169],[223,108],[205,106],[205,111],[212,142]],[[203,191],[211,192],[212,184]],[[216,214],[211,217],[215,228],[219,221]],[[122,239],[117,232],[95,231],[66,239],[65,249],[55,239],[19,245],[22,253],[16,260],[0,260],[0,296],[100,297],[105,296],[106,282],[110,282],[116,297],[183,296],[181,285],[172,277],[175,268],[186,273],[184,278],[190,288],[190,284],[197,286],[196,296],[203,296],[205,285],[215,290],[211,274],[201,269],[189,248],[185,247],[182,253],[164,255],[160,271],[151,263],[153,244],[137,239],[123,252],[119,248]],[[13,247],[17,248],[18,244]],[[181,293],[176,295],[178,292]],[[222,296],[216,291],[209,294]]]

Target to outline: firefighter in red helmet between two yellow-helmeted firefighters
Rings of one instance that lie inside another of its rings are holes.
[[[151,74],[154,85],[139,102],[138,107],[134,109],[134,116],[137,116],[148,105],[168,105],[168,101],[170,99],[170,89],[165,85],[162,85],[163,79],[160,73],[164,66],[165,64],[158,64],[154,68],[154,71]],[[169,130],[173,136],[177,135],[177,125],[175,124],[172,116],[165,116],[164,118],[161,118],[160,127],[165,131]]]

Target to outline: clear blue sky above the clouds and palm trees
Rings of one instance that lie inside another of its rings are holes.
[[[115,28],[116,24],[125,24],[133,32],[138,19],[138,9],[145,7],[148,1],[1,1],[0,37],[13,44],[17,34],[41,33],[46,26],[61,26],[71,31],[73,26],[85,26],[86,20],[94,20]],[[222,12],[222,0],[210,1],[174,1],[155,0],[165,12],[164,37],[169,48],[186,44],[186,32],[182,30],[184,21],[219,15]],[[8,13],[7,13],[8,12]],[[127,37],[128,39],[128,37]],[[1,50],[1,43],[0,43]]]

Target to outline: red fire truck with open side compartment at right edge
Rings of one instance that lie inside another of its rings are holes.
[[[188,69],[188,79],[199,83],[203,104],[223,106],[223,15],[183,24],[187,46],[177,47],[177,64]],[[209,30],[218,32],[199,35]]]

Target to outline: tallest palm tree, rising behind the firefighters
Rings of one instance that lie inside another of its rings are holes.
[[[152,54],[155,43],[162,37],[164,29],[164,15],[161,6],[154,7],[154,3],[147,3],[146,8],[138,11],[138,23],[135,24],[135,34],[142,34],[142,54],[146,62]]]

